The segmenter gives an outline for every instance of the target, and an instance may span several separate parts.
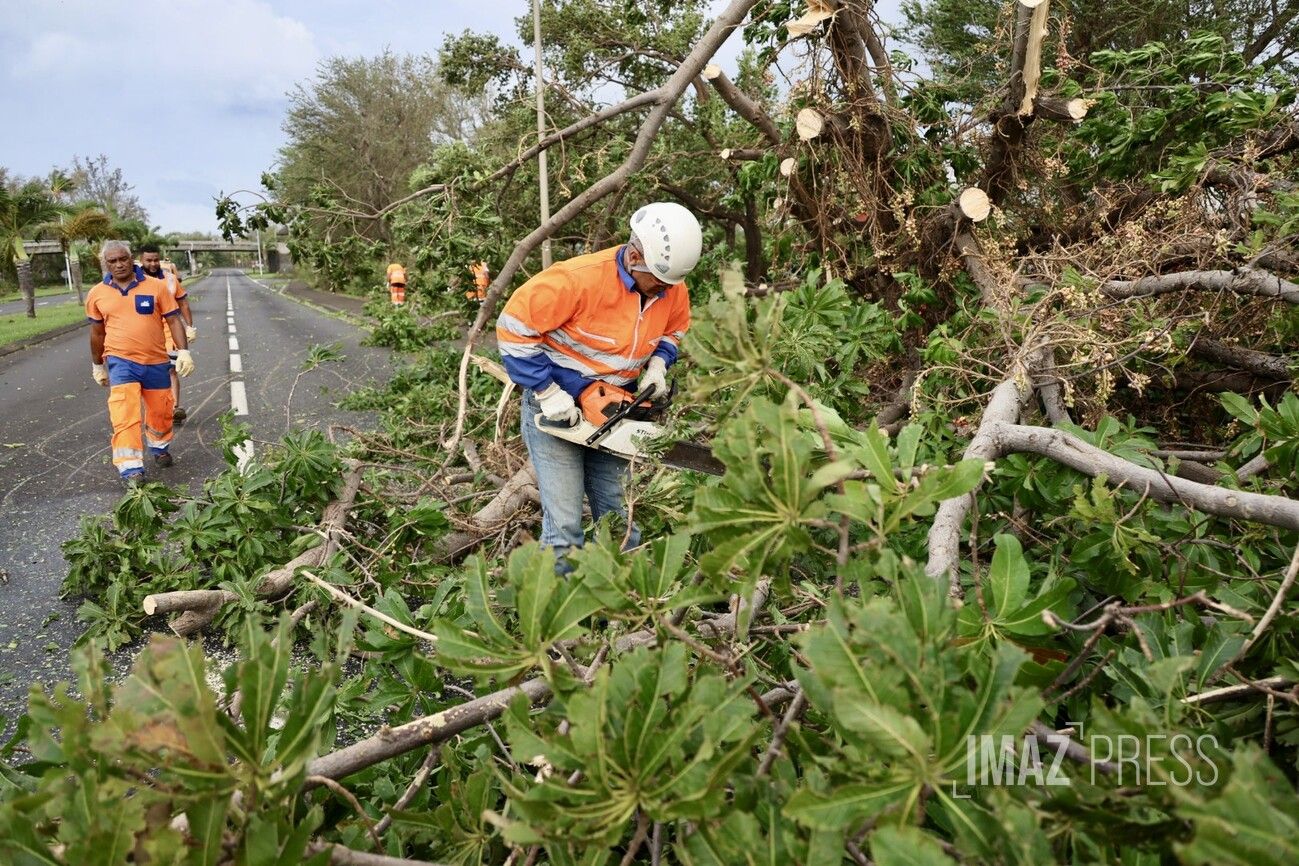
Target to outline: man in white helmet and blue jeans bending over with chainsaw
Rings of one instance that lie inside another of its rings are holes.
[[[699,261],[699,221],[675,203],[653,203],[631,217],[620,247],[557,262],[514,291],[496,319],[505,370],[523,391],[523,443],[542,496],[542,544],[562,556],[582,547],[582,497],[591,515],[626,517],[627,461],[551,436],[533,422],[566,426],[581,421],[577,399],[594,382],[637,392],[668,393],[668,366],[690,328],[690,297],[682,282]],[[640,543],[630,526],[626,547]]]

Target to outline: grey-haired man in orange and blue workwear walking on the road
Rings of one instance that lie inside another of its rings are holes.
[[[91,375],[108,388],[108,417],[113,423],[113,465],[122,480],[144,478],[144,445],[156,466],[173,464],[170,370],[164,322],[175,341],[175,371],[194,373],[181,308],[164,280],[149,277],[131,261],[131,248],[109,240],[100,251],[108,273],[86,296],[90,319]],[[140,401],[144,435],[140,435]]]

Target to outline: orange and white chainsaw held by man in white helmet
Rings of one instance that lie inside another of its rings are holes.
[[[713,457],[705,445],[679,441],[661,454],[647,451],[643,444],[662,436],[662,419],[677,392],[675,383],[666,395],[650,399],[651,388],[633,395],[626,388],[595,382],[587,386],[578,404],[582,409],[577,423],[568,426],[546,419],[536,413],[534,423],[542,432],[565,439],[578,445],[595,448],[626,460],[661,462],[673,469],[685,469],[708,475],[721,475],[726,467]]]

